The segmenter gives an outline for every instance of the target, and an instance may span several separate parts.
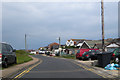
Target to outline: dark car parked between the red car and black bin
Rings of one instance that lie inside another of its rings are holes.
[[[97,59],[97,54],[99,54],[99,50],[89,50],[87,52],[84,52],[82,55],[83,60],[88,60],[88,59]]]

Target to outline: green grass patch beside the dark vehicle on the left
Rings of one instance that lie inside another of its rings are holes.
[[[29,57],[29,53],[24,50],[17,50],[16,56],[17,56],[17,64],[22,64],[28,61],[31,61],[32,58]]]

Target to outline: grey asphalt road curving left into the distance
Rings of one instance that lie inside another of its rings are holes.
[[[60,59],[41,55],[34,55],[34,57],[39,58],[40,62],[27,68],[27,71],[15,75],[15,78],[102,78],[78,66],[71,59]]]

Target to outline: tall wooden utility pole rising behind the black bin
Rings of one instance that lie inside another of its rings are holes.
[[[104,4],[103,0],[101,0],[101,21],[102,21],[102,52],[105,51],[105,46],[104,46]]]

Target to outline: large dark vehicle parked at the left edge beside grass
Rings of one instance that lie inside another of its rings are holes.
[[[8,64],[16,64],[16,54],[11,45],[0,43],[0,53],[2,54],[2,66],[8,67]]]

